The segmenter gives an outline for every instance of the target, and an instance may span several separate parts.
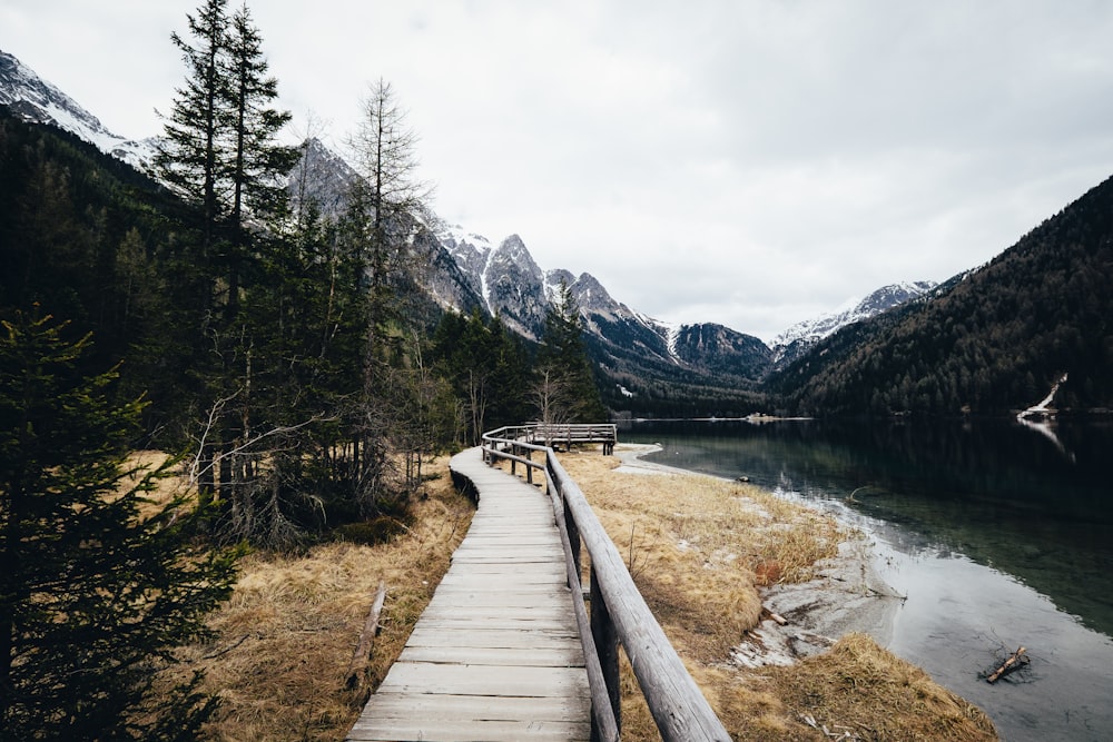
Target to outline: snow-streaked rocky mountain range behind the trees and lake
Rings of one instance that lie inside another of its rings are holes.
[[[58,126],[137,169],[146,169],[151,161],[157,139],[136,141],[108,131],[73,99],[3,52],[0,105],[24,120]],[[337,214],[357,177],[343,157],[311,139],[290,175],[289,190],[295,202],[312,198],[325,214]],[[413,240],[427,263],[424,287],[439,306],[459,311],[479,307],[498,314],[529,339],[541,336],[554,288],[565,283],[580,306],[589,353],[603,377],[604,402],[612,409],[640,408],[651,399],[682,396],[733,399],[729,409],[745,412],[751,394],[770,373],[792,364],[839,329],[934,288],[929,281],[883,287],[848,310],[786,329],[769,347],[722,325],[670,325],[632,310],[590,274],[542,269],[518,235],[495,245],[424,212],[415,215]]]

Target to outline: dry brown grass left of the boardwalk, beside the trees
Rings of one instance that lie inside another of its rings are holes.
[[[344,739],[402,652],[471,522],[473,507],[453,491],[447,458],[430,471],[441,476],[415,504],[413,525],[390,543],[325,544],[301,556],[244,560],[230,601],[210,621],[219,640],[184,650],[184,670],[204,670],[204,690],[221,700],[205,739]],[[368,682],[347,690],[380,581],[386,604]]]

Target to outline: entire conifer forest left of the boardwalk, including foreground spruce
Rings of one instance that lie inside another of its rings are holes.
[[[567,290],[534,344],[422,294],[388,82],[325,214],[289,198],[303,151],[248,8],[187,19],[154,177],[0,108],[0,740],[191,739],[211,700],[150,677],[244,548],[385,537],[430,456],[605,415]],[[171,472],[194,496],[154,503]]]

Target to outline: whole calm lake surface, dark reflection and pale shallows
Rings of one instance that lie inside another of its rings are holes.
[[[837,511],[907,601],[889,649],[1002,736],[1113,740],[1113,425],[652,422],[647,457]],[[1024,645],[1021,673],[978,673]]]

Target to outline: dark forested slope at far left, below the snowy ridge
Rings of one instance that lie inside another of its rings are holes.
[[[188,211],[151,180],[71,135],[0,108],[0,315],[40,303],[96,330],[88,368],[125,359],[127,395],[144,390],[161,425],[188,390],[177,270]],[[188,240],[186,240],[188,241]],[[140,380],[141,379],[141,380]]]

